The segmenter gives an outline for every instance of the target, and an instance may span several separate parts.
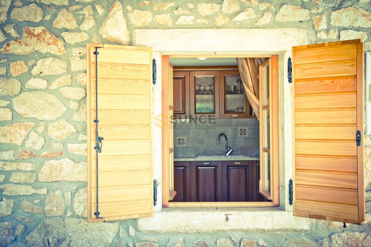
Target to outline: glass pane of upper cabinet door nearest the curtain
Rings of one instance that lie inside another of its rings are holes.
[[[224,76],[225,112],[244,112],[244,89],[241,77]]]

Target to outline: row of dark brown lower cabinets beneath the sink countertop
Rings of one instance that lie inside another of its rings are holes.
[[[175,161],[173,202],[264,201],[256,161]]]

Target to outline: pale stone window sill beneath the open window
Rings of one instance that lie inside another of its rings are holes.
[[[153,217],[138,218],[142,233],[308,232],[311,221],[280,208],[162,208]]]

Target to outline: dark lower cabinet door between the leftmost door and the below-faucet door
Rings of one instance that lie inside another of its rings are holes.
[[[191,162],[192,201],[222,201],[221,161]]]

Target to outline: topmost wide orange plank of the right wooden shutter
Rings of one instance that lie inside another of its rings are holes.
[[[295,50],[295,64],[318,63],[357,58],[357,44]]]

